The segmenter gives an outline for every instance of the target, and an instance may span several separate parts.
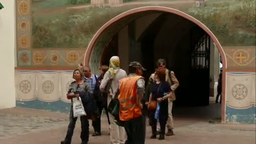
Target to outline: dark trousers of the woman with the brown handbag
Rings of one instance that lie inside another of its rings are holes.
[[[161,128],[160,134],[165,134],[166,115],[159,114],[159,123]],[[152,128],[152,135],[157,134],[157,120],[155,119],[155,111],[149,112],[149,125]]]

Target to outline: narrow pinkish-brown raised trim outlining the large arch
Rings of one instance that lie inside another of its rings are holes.
[[[120,15],[114,17],[113,19],[109,20],[106,24],[104,24],[97,32],[96,34],[93,36],[91,42],[89,43],[87,50],[85,52],[85,58],[84,58],[84,65],[89,65],[89,61],[90,61],[90,57],[91,57],[91,52],[93,50],[93,46],[96,43],[96,41],[98,40],[99,36],[104,32],[104,30],[106,30],[109,26],[111,26],[112,24],[114,24],[115,22],[118,22],[120,19],[124,18],[125,16],[129,16],[131,14],[134,13],[140,13],[143,11],[162,11],[162,12],[167,12],[167,13],[174,13],[178,16],[182,16],[183,18],[194,22],[195,24],[197,24],[199,27],[201,27],[213,40],[213,43],[215,43],[216,47],[219,50],[219,53],[221,55],[222,58],[222,103],[221,103],[221,122],[225,122],[225,106],[226,106],[226,69],[227,69],[227,59],[224,53],[224,50],[221,46],[221,44],[219,43],[219,40],[215,37],[215,35],[213,34],[213,32],[211,32],[210,29],[208,29],[208,27],[206,27],[203,23],[201,23],[200,21],[198,21],[197,19],[195,19],[192,16],[189,16],[187,13],[184,13],[182,11],[173,9],[173,8],[167,8],[167,7],[161,7],[161,6],[145,6],[145,7],[140,7],[140,8],[134,8],[131,9],[129,11],[126,11],[124,13],[121,13]]]

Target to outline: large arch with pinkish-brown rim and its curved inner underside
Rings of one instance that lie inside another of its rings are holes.
[[[183,17],[184,19],[187,19],[189,21],[192,21],[195,23],[198,27],[202,28],[208,35],[211,37],[213,40],[213,43],[215,43],[216,48],[218,48],[219,53],[222,58],[222,64],[223,64],[223,78],[222,78],[222,105],[221,105],[221,121],[224,122],[225,120],[225,87],[226,87],[226,56],[224,54],[223,48],[221,47],[219,41],[213,35],[210,29],[208,29],[203,23],[198,21],[197,19],[193,18],[192,16],[189,16],[188,14],[178,11],[176,9],[172,8],[166,8],[166,7],[160,7],[160,6],[147,6],[147,7],[141,7],[141,8],[135,8],[130,11],[126,11],[125,13],[122,13],[115,18],[111,19],[108,21],[106,24],[104,24],[98,32],[94,35],[92,38],[91,42],[88,45],[87,51],[85,53],[85,59],[84,59],[84,64],[89,65],[99,65],[99,60],[93,59],[93,56],[99,55],[99,53],[102,53],[99,51],[99,48],[102,45],[106,45],[111,37],[113,37],[118,30],[120,30],[122,27],[125,26],[130,21],[133,21],[134,19],[137,19],[141,16],[144,16],[149,13],[155,13],[155,12],[167,12],[167,13],[173,13],[178,16]],[[115,27],[115,30],[113,30],[113,27]],[[109,35],[109,39],[106,37]],[[93,59],[94,61],[90,61]],[[99,59],[99,58],[98,58]]]

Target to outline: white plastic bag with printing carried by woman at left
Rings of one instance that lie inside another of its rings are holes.
[[[86,115],[85,109],[83,108],[83,103],[81,98],[72,98],[73,101],[73,115],[74,117],[80,117],[82,115]]]

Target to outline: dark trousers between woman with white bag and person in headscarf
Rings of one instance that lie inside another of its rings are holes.
[[[110,120],[109,120],[109,113],[108,113],[107,107],[101,107],[100,105],[98,105],[98,109],[99,109],[99,115],[96,120],[92,121],[92,125],[94,128],[94,132],[100,133],[101,132],[101,113],[102,113],[103,109],[105,109],[105,111],[106,111],[107,121],[108,121],[109,125],[110,125]]]

